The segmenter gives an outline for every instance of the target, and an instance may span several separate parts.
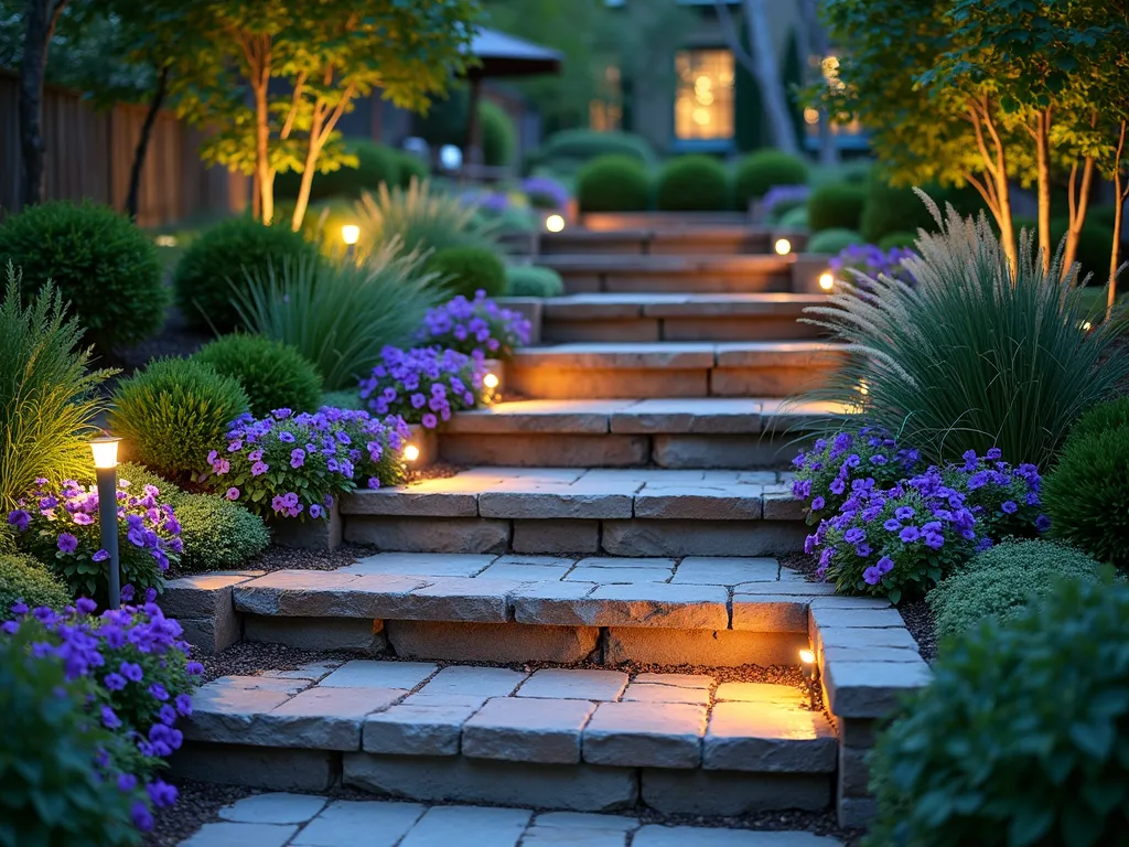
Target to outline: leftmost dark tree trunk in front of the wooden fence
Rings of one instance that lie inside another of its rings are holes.
[[[43,200],[43,79],[47,70],[47,50],[55,21],[67,0],[28,0],[24,17],[24,55],[19,63],[19,199],[23,206]]]

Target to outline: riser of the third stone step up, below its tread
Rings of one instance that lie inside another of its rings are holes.
[[[804,544],[802,521],[522,519],[347,515],[344,538],[418,553],[777,556]]]

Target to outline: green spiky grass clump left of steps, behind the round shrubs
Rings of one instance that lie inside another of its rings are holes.
[[[425,253],[394,237],[367,261],[286,261],[236,290],[243,322],[312,361],[325,391],[356,388],[386,346],[410,346],[428,309],[446,298]]]

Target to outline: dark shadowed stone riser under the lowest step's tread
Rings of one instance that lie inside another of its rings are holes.
[[[658,812],[699,815],[820,811],[831,805],[834,784],[833,774],[543,765],[202,742],[177,752],[172,769],[184,778],[271,791],[344,786],[417,801],[577,812],[634,809],[641,802]]]

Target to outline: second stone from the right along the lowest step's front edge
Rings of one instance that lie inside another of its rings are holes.
[[[706,707],[689,704],[602,702],[584,731],[592,765],[697,768]]]

